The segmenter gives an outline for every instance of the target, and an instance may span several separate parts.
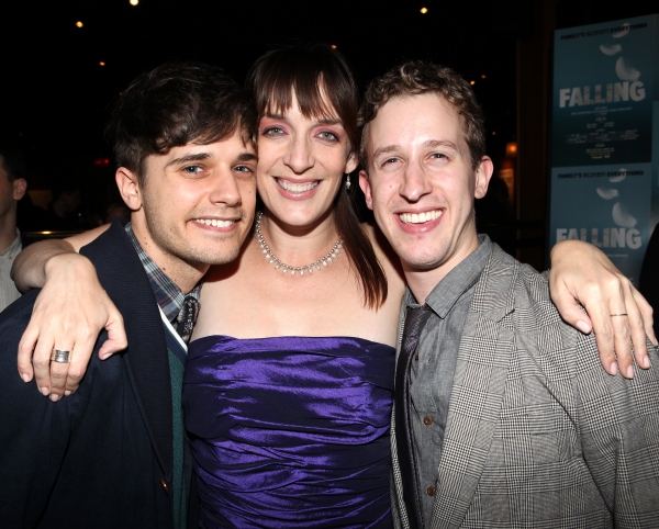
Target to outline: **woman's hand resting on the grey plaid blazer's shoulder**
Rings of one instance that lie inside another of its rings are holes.
[[[595,333],[606,372],[633,378],[634,358],[650,367],[646,335],[657,346],[652,307],[604,252],[580,240],[558,243],[549,286],[561,317],[582,333]]]

